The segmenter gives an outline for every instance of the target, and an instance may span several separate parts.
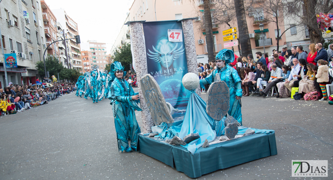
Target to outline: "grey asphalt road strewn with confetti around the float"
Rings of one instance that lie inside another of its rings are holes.
[[[206,99],[206,94],[202,94]],[[243,97],[243,125],[273,129],[278,154],[196,179],[332,179],[333,105],[290,98]],[[139,125],[142,124],[137,112]],[[109,99],[75,92],[0,117],[0,179],[191,179],[139,152],[118,152]],[[328,176],[291,177],[291,160],[328,160]]]

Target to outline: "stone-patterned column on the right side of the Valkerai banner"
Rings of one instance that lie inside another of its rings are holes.
[[[194,42],[194,31],[193,31],[193,19],[184,19],[183,33],[185,40],[185,52],[187,59],[187,71],[189,73],[198,74],[198,64],[196,60],[195,42]],[[200,87],[196,89],[196,93],[201,97]]]

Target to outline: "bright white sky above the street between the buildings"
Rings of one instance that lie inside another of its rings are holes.
[[[45,2],[51,10],[65,9],[67,15],[78,24],[81,43],[86,43],[88,40],[107,43],[107,54],[109,54],[134,0],[45,0]]]

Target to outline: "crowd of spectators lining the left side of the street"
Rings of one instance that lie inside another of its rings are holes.
[[[0,89],[1,115],[5,113],[16,114],[26,109],[47,104],[49,101],[56,100],[60,96],[75,90],[75,86],[72,83],[51,83],[47,78],[44,78],[43,82],[40,82],[39,78],[37,78],[36,84],[23,86],[9,83],[9,87]]]

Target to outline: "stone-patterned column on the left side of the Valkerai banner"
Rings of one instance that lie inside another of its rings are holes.
[[[141,78],[146,74],[148,74],[142,22],[131,22],[130,26],[131,26],[135,68],[137,72],[138,89],[140,95],[140,107],[142,109],[141,118],[142,118],[143,127],[141,128],[141,132],[148,133],[151,132],[151,126],[154,126],[154,123],[151,114],[149,112],[149,109],[146,105],[146,101],[144,99],[140,84]]]

